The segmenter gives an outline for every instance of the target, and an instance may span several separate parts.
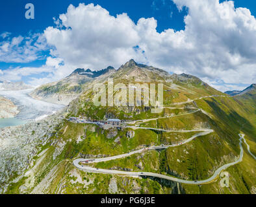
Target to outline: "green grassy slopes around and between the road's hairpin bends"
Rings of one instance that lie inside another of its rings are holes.
[[[181,87],[185,87],[186,84]],[[186,98],[199,98],[209,94],[221,94],[211,87],[204,87],[201,85],[191,85],[186,91],[172,90],[167,96],[166,100],[173,102],[185,101]],[[174,97],[174,98],[173,98]],[[97,108],[86,102],[86,98],[90,96],[84,95],[77,104],[77,100],[71,103],[72,115],[83,115],[92,119],[103,119],[105,114],[112,114],[116,118],[125,119],[133,116],[133,120],[153,118],[159,114],[151,114],[148,111],[144,113],[135,113],[136,110],[125,113],[120,109],[113,108]],[[190,103],[188,105],[195,105]],[[159,173],[168,173],[177,177],[186,179],[206,179],[211,175],[212,171],[221,164],[233,161],[233,158],[239,154],[238,147],[238,133],[241,131],[246,134],[246,139],[251,146],[251,151],[255,152],[255,113],[251,113],[253,108],[247,108],[246,103],[243,103],[233,98],[206,98],[204,100],[196,100],[196,105],[212,114],[209,118],[207,115],[198,112],[186,116],[177,116],[174,118],[166,118],[157,121],[157,127],[163,129],[194,129],[196,126],[209,126],[214,129],[214,133],[207,136],[196,138],[185,146],[167,149],[165,151],[157,152],[151,151],[142,157],[140,155],[133,155],[130,158],[123,160],[114,160],[103,164],[98,164],[99,167],[104,168],[130,168],[138,169],[138,164],[142,162],[144,171],[155,171]],[[160,116],[166,113],[184,113],[185,110],[179,111],[164,111]],[[71,114],[70,114],[71,115]],[[154,122],[149,122],[156,126]],[[36,190],[44,193],[108,193],[106,188],[111,180],[116,180],[119,192],[131,193],[177,193],[177,185],[173,182],[165,182],[163,180],[150,179],[133,179],[123,178],[112,175],[97,175],[77,171],[73,166],[71,160],[79,155],[118,155],[127,153],[127,151],[136,149],[141,145],[161,144],[166,142],[172,143],[177,138],[177,133],[157,133],[150,130],[136,130],[134,138],[128,139],[126,137],[127,130],[118,131],[118,134],[113,138],[106,138],[110,131],[103,131],[97,126],[83,124],[71,124],[64,122],[60,127],[58,133],[53,136],[47,146],[42,146],[42,151],[45,151],[44,158],[34,158],[34,163],[38,164],[36,168],[32,168],[34,174],[29,174],[23,177],[19,182],[10,185],[9,193],[18,193],[22,188],[19,186],[27,186],[25,192]],[[185,139],[194,135],[194,133],[185,133],[178,135],[178,139]],[[116,143],[114,140],[120,137],[120,142]],[[81,138],[83,141],[77,143]],[[66,142],[60,154],[53,159],[53,154],[57,151],[58,144]],[[187,152],[187,153],[186,153]],[[233,166],[227,171],[231,175],[231,187],[220,188],[219,182],[203,186],[190,186],[182,184],[181,192],[183,193],[250,193],[253,186],[255,186],[255,160],[244,152],[244,160],[237,166]],[[225,157],[224,157],[225,156]],[[177,160],[180,160],[178,162]],[[54,170],[53,170],[54,169]],[[75,173],[74,173],[75,171]],[[32,182],[32,177],[35,175],[35,180]],[[47,177],[53,177],[49,180]],[[79,180],[80,179],[80,180]],[[44,180],[47,181],[47,188],[43,189]],[[78,181],[77,181],[78,180]],[[30,184],[32,183],[32,184]],[[40,188],[36,188],[36,186]]]

